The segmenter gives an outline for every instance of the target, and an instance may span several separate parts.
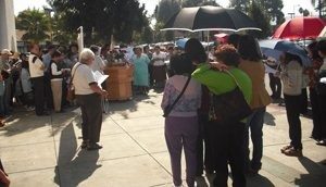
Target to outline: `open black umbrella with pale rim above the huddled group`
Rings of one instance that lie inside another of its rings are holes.
[[[244,13],[221,7],[184,8],[173,15],[161,30],[261,30]]]

